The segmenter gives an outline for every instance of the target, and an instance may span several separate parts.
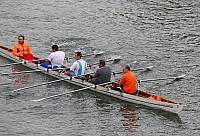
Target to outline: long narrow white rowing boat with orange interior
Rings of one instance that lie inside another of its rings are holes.
[[[12,49],[9,49],[5,46],[0,46],[0,55],[10,59],[14,62],[19,62],[18,57],[12,55]],[[37,64],[34,63],[22,63],[22,65],[31,68],[31,69],[41,69],[44,71],[41,71],[42,73],[45,73],[47,75],[53,76],[55,78],[61,79],[61,78],[66,78],[63,74],[60,74],[57,71],[47,71],[46,68],[43,68]],[[63,77],[64,76],[64,77]],[[77,78],[66,78],[64,80],[65,82],[80,86],[80,87],[89,87],[92,84],[86,81],[82,81]],[[150,93],[144,92],[144,91],[138,91],[137,95],[131,95],[123,92],[119,92],[116,90],[112,90],[109,87],[103,87],[103,86],[96,86],[96,87],[91,87],[89,88],[91,91],[95,91],[101,94],[105,94],[111,97],[115,97],[130,103],[135,103],[135,104],[141,104],[145,105],[148,107],[156,108],[156,109],[161,109],[164,111],[172,112],[172,113],[178,113],[182,110],[183,104],[177,103],[168,99],[165,99],[163,97],[160,97],[160,100],[155,100],[155,99],[150,99],[152,95]]]

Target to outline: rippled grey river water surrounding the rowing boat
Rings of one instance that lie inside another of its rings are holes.
[[[129,136],[193,135],[200,133],[200,2],[199,0],[1,0],[0,43],[12,47],[25,35],[34,54],[44,58],[59,44],[68,56],[104,51],[88,63],[121,56],[138,79],[186,74],[180,81],[144,82],[149,90],[186,106],[176,114],[126,103],[89,90],[40,103],[31,100],[72,91],[64,82],[9,91],[55,80],[41,73],[0,77],[0,135]],[[133,63],[137,61],[137,63]],[[12,63],[0,57],[0,64]],[[70,63],[69,63],[70,65]],[[29,70],[22,66],[0,72]]]

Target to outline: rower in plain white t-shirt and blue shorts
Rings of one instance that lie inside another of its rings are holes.
[[[65,53],[58,50],[58,45],[52,46],[52,53],[47,58],[46,62],[40,64],[45,68],[61,68],[65,59]]]

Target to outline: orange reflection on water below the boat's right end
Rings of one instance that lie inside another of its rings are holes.
[[[125,130],[130,132],[134,131],[134,128],[138,126],[137,121],[139,119],[136,108],[130,105],[122,105],[120,107],[120,113],[123,116],[121,122]]]

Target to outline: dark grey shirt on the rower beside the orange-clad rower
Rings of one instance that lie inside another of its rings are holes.
[[[110,67],[104,66],[97,69],[93,78],[97,80],[98,84],[110,82],[110,78],[111,78]]]

